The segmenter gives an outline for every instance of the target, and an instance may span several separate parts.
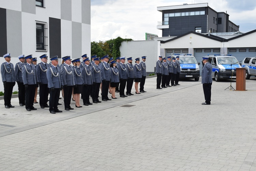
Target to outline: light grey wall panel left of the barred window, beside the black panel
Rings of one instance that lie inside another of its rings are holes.
[[[8,53],[22,55],[22,12],[6,10],[6,35]]]

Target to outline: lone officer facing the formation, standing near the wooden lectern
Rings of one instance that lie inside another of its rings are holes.
[[[212,89],[212,65],[209,63],[209,57],[203,57],[202,84],[205,102],[202,104],[211,104]]]

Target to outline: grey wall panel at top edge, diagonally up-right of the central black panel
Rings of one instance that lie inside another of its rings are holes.
[[[71,0],[61,0],[60,4],[61,19],[72,21],[72,2]]]

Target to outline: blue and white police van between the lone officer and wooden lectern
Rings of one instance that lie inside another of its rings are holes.
[[[212,77],[216,82],[224,79],[236,79],[236,69],[242,68],[236,57],[231,55],[210,55],[209,63],[212,64]]]

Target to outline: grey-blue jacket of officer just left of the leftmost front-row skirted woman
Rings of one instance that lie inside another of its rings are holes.
[[[63,85],[67,85],[67,86],[75,85],[74,70],[71,65],[68,66],[68,65],[64,64],[60,68],[60,73],[61,73]]]

